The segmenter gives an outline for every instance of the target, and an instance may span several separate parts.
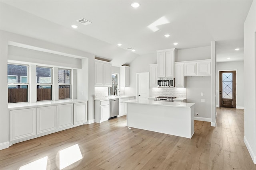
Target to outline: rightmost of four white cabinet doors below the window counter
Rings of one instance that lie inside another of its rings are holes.
[[[74,125],[87,121],[87,103],[74,103]]]

